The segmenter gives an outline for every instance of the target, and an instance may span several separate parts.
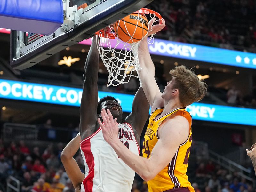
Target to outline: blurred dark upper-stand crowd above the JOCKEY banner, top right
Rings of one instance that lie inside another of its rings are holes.
[[[158,38],[256,52],[254,0],[161,0],[148,8],[166,21]]]

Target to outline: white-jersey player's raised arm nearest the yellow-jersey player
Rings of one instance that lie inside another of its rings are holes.
[[[148,119],[148,114],[149,103],[142,87],[139,87],[132,102],[132,113],[125,119],[125,122],[130,123],[136,130],[139,137]]]

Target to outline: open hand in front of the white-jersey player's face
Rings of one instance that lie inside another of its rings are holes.
[[[100,118],[98,118],[98,123],[102,129],[103,137],[105,141],[112,146],[112,144],[118,140],[117,118],[114,120],[111,112],[108,109],[107,112],[105,109],[102,109],[101,117],[104,124],[100,121]]]

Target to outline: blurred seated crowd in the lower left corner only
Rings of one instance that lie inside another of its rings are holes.
[[[42,148],[44,150],[42,150]],[[45,147],[33,147],[24,141],[5,146],[0,140],[0,191],[6,191],[6,183],[16,184],[8,178],[12,175],[20,181],[21,192],[74,192],[71,181],[60,161],[62,143]],[[76,161],[84,171],[82,156]]]

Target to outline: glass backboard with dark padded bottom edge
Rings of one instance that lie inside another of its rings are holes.
[[[63,0],[64,22],[51,35],[11,30],[10,65],[26,69],[146,6],[153,0]]]

